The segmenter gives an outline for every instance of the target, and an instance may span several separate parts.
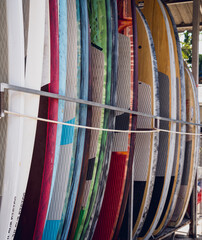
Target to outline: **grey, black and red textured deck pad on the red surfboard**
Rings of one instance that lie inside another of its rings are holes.
[[[123,34],[119,34],[118,42],[117,106],[129,109],[131,87],[130,39]],[[117,112],[115,129],[128,130],[128,128],[129,114]],[[123,198],[128,156],[128,133],[115,133],[106,190],[93,239],[111,239],[113,236]]]

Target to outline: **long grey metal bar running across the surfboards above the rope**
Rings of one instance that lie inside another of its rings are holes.
[[[44,97],[50,97],[50,98],[69,101],[69,102],[75,102],[75,103],[79,103],[79,104],[85,104],[85,105],[89,105],[92,107],[99,107],[99,108],[104,108],[104,109],[108,109],[108,110],[112,110],[112,111],[124,112],[124,113],[132,114],[132,115],[138,115],[138,116],[142,116],[142,117],[157,119],[160,121],[175,122],[175,123],[189,124],[189,125],[202,127],[202,124],[198,124],[198,123],[191,123],[191,122],[186,122],[186,121],[177,120],[177,119],[154,116],[151,114],[132,111],[132,110],[128,110],[125,108],[119,108],[119,107],[115,107],[115,106],[111,106],[111,105],[105,105],[105,104],[87,101],[87,100],[83,100],[83,99],[79,99],[79,98],[71,98],[71,97],[62,96],[62,95],[55,94],[55,93],[49,93],[49,92],[39,91],[39,90],[31,89],[31,88],[14,86],[14,85],[7,84],[7,83],[0,83],[0,91],[4,92],[5,89],[13,90],[13,91],[17,91],[17,92],[24,92],[24,93],[29,93],[29,94],[40,95],[40,96],[44,96]]]

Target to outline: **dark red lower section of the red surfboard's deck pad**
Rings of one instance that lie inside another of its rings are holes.
[[[93,240],[112,239],[116,226],[127,173],[127,152],[113,152],[107,185]]]

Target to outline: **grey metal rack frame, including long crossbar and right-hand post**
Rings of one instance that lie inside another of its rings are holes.
[[[200,23],[200,0],[167,0],[165,1],[165,3],[167,5],[173,5],[173,4],[183,4],[183,3],[192,3],[193,2],[193,75],[196,81],[196,85],[198,85],[198,44],[199,44],[199,25],[201,25],[202,23]],[[191,27],[191,26],[183,26],[183,27]],[[92,101],[86,101],[86,100],[82,100],[82,99],[76,99],[76,98],[70,98],[70,97],[66,97],[66,96],[62,96],[59,94],[53,94],[53,93],[48,93],[48,92],[44,92],[44,91],[38,91],[38,90],[33,90],[30,88],[24,88],[24,87],[18,87],[18,86],[14,86],[14,85],[9,85],[6,83],[0,83],[0,119],[1,117],[4,117],[4,91],[5,90],[12,90],[12,91],[18,91],[18,92],[24,92],[24,93],[29,93],[29,94],[35,94],[35,95],[40,95],[40,96],[45,96],[45,97],[51,97],[51,98],[55,98],[55,99],[60,99],[60,100],[64,100],[64,101],[70,101],[70,102],[75,102],[77,104],[86,104],[89,106],[93,106],[93,107],[99,107],[99,108],[105,108],[108,110],[112,110],[112,111],[120,111],[120,112],[125,112],[128,114],[133,114],[133,115],[139,115],[142,117],[148,117],[148,118],[152,118],[155,119],[155,126],[157,126],[157,128],[159,127],[159,121],[169,121],[169,122],[175,122],[175,123],[181,123],[181,124],[190,124],[190,125],[196,125],[196,126],[200,126],[202,127],[201,124],[194,124],[194,123],[190,123],[190,122],[186,122],[186,121],[181,121],[181,120],[176,120],[176,119],[169,119],[169,118],[164,118],[164,117],[160,117],[160,116],[154,116],[154,115],[149,115],[149,114],[145,114],[145,113],[141,113],[138,111],[131,111],[128,109],[124,109],[124,108],[119,108],[119,107],[115,107],[115,106],[110,106],[110,105],[105,105],[105,104],[100,104],[100,103],[96,103],[96,102],[92,102]],[[190,224],[190,232],[189,235],[193,238],[197,237],[197,201],[196,201],[196,197],[197,197],[197,176],[196,176],[196,180],[195,180],[195,186],[193,188],[193,193],[192,193],[192,197],[191,197],[191,219],[190,220],[183,220],[182,224],[177,227],[177,228],[166,228],[163,233],[157,237],[156,239],[165,239],[169,236],[171,236],[172,234],[174,234],[179,228]],[[132,197],[132,196],[131,196]],[[132,204],[132,203],[131,203]],[[133,204],[132,204],[133,205]],[[132,206],[131,206],[132,207]],[[131,221],[132,221],[132,216],[131,217]],[[132,239],[131,236],[131,221],[129,223],[129,239]]]

